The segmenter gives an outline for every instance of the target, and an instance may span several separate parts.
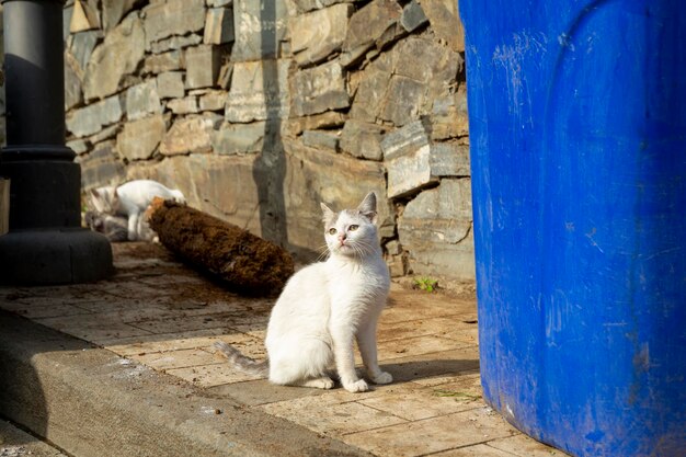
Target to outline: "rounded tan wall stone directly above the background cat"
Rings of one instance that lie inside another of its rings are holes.
[[[145,160],[152,157],[164,137],[167,123],[161,114],[124,124],[117,136],[119,155],[128,161]]]

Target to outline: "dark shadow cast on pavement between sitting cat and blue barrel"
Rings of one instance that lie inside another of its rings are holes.
[[[443,376],[479,373],[478,359],[426,359],[380,363],[381,369],[393,376],[393,382],[410,382]]]

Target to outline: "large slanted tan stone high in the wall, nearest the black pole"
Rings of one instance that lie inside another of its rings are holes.
[[[87,100],[103,99],[119,89],[125,75],[133,73],[142,59],[145,32],[134,12],[112,30],[91,56],[83,80]]]

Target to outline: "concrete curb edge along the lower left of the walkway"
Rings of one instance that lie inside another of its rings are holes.
[[[0,414],[73,456],[369,456],[0,311]]]

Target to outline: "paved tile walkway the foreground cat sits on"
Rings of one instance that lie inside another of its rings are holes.
[[[0,308],[374,455],[565,456],[483,403],[473,298],[395,284],[379,324],[380,364],[393,384],[365,393],[281,387],[233,372],[211,347],[222,340],[264,357],[273,300],[228,293],[159,245],[113,249],[112,279],[0,288]]]

